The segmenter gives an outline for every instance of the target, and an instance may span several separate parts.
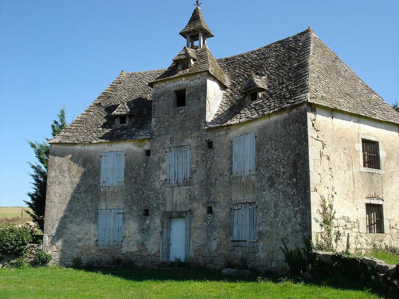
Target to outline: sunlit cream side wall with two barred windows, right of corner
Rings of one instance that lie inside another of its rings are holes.
[[[336,210],[338,250],[346,250],[347,241],[352,252],[399,246],[398,126],[309,106],[308,134],[313,238],[324,197]],[[363,167],[362,138],[379,141],[381,170]],[[366,203],[383,204],[385,234],[366,232]]]

